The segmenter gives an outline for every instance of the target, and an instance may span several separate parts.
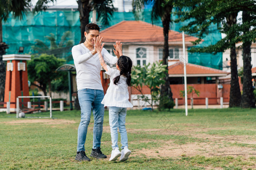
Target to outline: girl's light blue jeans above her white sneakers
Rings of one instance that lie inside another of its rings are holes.
[[[127,132],[125,129],[125,117],[126,117],[127,108],[123,107],[109,107],[109,126],[110,126],[110,134],[112,141],[112,149],[118,147],[118,133],[117,127],[119,129],[119,133],[121,135],[121,149],[124,149],[125,146],[128,147],[128,138]]]

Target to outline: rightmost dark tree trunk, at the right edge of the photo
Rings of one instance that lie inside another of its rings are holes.
[[[242,13],[242,20],[243,23],[245,23],[248,18],[249,14],[246,11],[243,11]],[[246,35],[246,32],[250,31],[250,26],[245,28],[244,35]],[[253,107],[255,108],[255,98],[253,95],[253,88],[252,88],[252,65],[251,65],[251,41],[247,41],[246,39],[243,39],[243,67],[244,67],[244,73],[243,73],[243,93],[242,93],[242,100],[240,107],[242,108],[249,108]]]

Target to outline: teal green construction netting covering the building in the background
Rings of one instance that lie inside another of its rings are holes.
[[[151,11],[144,11],[140,20],[151,23]],[[91,16],[90,16],[91,18]],[[119,23],[123,20],[135,20],[132,12],[114,12],[110,25]],[[155,21],[155,25],[162,26],[161,21]],[[174,31],[179,31],[182,24],[186,23],[172,23],[170,27]],[[107,28],[102,26],[99,22],[98,25],[101,30]],[[65,31],[71,31],[72,36],[69,39],[73,40],[74,44],[80,41],[80,21],[78,11],[46,11],[33,15],[32,12],[27,12],[22,20],[15,20],[10,17],[6,22],[3,22],[3,41],[9,45],[7,54],[17,54],[19,47],[25,47],[25,53],[34,54],[31,46],[35,45],[35,39],[42,40],[47,46],[50,46],[50,41],[46,40],[45,36],[50,33],[55,35],[56,43],[59,44],[61,36]],[[132,29],[132,28],[131,28]],[[209,44],[215,44],[221,39],[221,33],[218,32],[217,26],[211,27],[209,35],[204,37],[202,44],[197,46],[203,47]],[[64,50],[61,54],[62,58],[67,59],[68,64],[73,64],[71,55],[71,47]],[[217,55],[212,54],[188,54],[188,62],[202,66],[217,68],[222,70],[222,53]]]

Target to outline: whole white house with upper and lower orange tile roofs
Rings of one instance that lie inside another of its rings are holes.
[[[143,66],[143,64],[162,60],[164,43],[162,27],[143,21],[121,21],[101,31],[99,34],[103,37],[104,48],[112,55],[114,55],[113,44],[117,40],[121,41],[123,44],[123,54],[132,59],[133,65],[139,64]],[[185,61],[188,61],[187,48],[193,46],[191,41],[196,39],[196,37],[185,35]],[[168,43],[170,53],[168,57],[169,80],[173,89],[173,98],[180,98],[180,90],[184,88],[184,64],[180,62],[181,59],[183,60],[182,33],[170,30]],[[225,76],[226,74],[222,70],[187,63],[188,85],[193,86],[193,84],[196,84],[197,90],[200,88],[200,96],[204,98],[202,101],[195,100],[195,104],[204,103],[205,97],[214,98],[209,99],[209,104],[217,104],[217,98],[223,96],[223,92],[218,90],[218,77]],[[103,71],[101,77],[105,90],[106,87],[104,86],[106,86],[106,83],[109,83],[108,77],[104,75]],[[206,87],[206,83],[212,84]],[[136,89],[131,88],[129,91],[133,106],[147,105],[146,102],[138,100],[139,92]],[[143,87],[143,93],[150,98],[150,91],[147,87]],[[179,103],[182,104],[182,101],[180,100]]]

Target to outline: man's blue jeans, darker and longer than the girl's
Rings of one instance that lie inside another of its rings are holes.
[[[91,110],[93,110],[93,149],[101,147],[101,135],[104,118],[104,105],[101,101],[104,97],[103,90],[93,90],[89,88],[78,90],[78,99],[81,107],[81,121],[78,127],[77,151],[84,149],[87,128],[91,119]]]

